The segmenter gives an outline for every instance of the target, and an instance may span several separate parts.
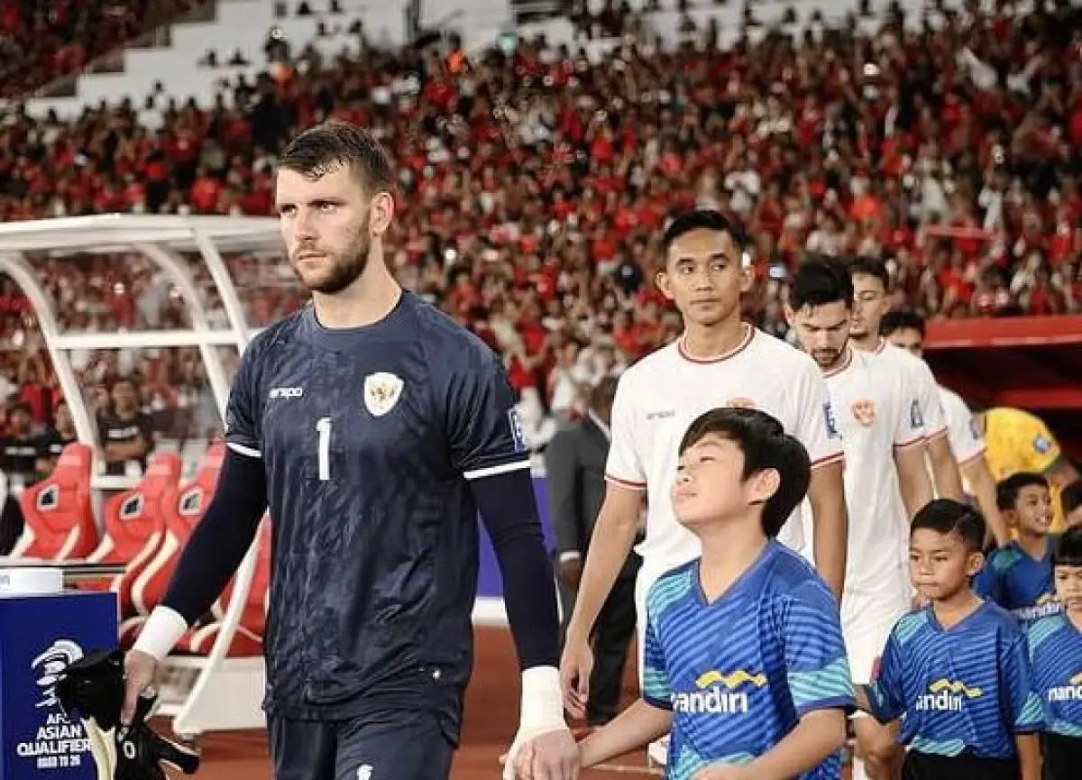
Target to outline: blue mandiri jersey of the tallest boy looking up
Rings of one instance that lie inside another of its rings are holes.
[[[647,597],[643,698],[673,712],[665,777],[763,755],[813,710],[855,705],[837,603],[777,541],[710,603],[699,560],[659,579]],[[802,780],[836,780],[834,755]]]

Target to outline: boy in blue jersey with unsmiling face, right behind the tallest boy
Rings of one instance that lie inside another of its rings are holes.
[[[969,589],[980,569],[985,520],[956,501],[913,518],[909,571],[928,606],[890,632],[879,677],[858,686],[881,723],[902,715],[905,780],[1039,780],[1041,702],[1026,635],[1006,610]]]

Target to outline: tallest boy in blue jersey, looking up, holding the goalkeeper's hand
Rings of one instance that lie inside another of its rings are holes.
[[[591,766],[671,729],[671,780],[836,780],[854,704],[837,603],[774,538],[804,498],[804,447],[754,409],[715,409],[672,490],[702,557],[647,597],[643,698],[581,745]]]

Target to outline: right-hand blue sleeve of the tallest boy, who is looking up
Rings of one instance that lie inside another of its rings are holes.
[[[837,603],[818,581],[796,587],[786,599],[781,640],[789,691],[796,715],[814,710],[852,712],[856,695],[845,655]]]

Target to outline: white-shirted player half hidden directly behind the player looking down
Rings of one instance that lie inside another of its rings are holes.
[[[936,378],[923,360],[887,343],[880,335],[880,321],[890,307],[887,300],[890,275],[882,261],[857,257],[849,264],[849,276],[854,292],[853,326],[849,329],[853,346],[893,360],[911,372],[927,433],[928,460],[932,462],[936,494],[941,499],[961,501],[962,476],[947,439],[947,421],[939,401]],[[906,539],[908,544],[908,533]]]

